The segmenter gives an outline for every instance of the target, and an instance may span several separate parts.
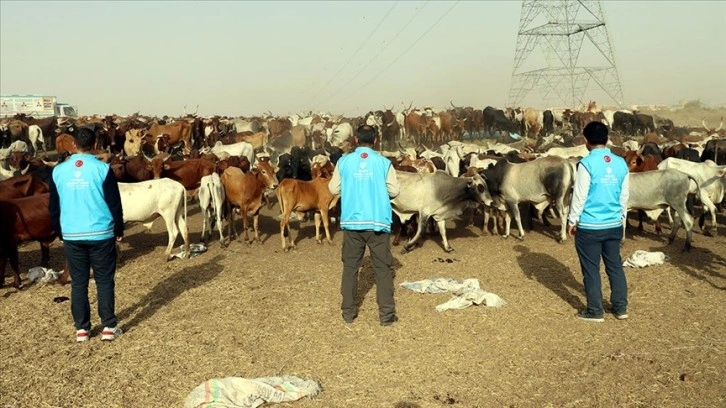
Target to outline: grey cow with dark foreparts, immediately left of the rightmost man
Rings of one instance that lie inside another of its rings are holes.
[[[556,157],[543,157],[526,163],[510,163],[500,160],[494,167],[484,170],[489,192],[494,199],[500,199],[508,209],[505,217],[506,230],[502,238],[509,237],[511,215],[517,221],[519,239],[524,239],[522,218],[518,204],[535,204],[539,213],[551,203],[555,204],[560,216],[560,243],[567,240],[567,222],[570,211],[572,185],[575,179],[573,166],[569,161]]]

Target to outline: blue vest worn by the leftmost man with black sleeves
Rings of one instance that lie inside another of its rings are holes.
[[[64,241],[101,241],[114,237],[113,217],[103,193],[109,167],[92,154],[79,153],[53,169]]]

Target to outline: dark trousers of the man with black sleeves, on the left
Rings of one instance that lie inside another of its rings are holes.
[[[103,327],[116,327],[116,240],[63,241],[63,249],[71,275],[71,314],[76,330],[91,330],[91,305],[88,302],[91,267],[96,281],[101,324]]]

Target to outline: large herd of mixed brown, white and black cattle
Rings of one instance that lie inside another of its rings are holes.
[[[504,238],[513,218],[519,239],[523,222],[533,216],[545,225],[550,216],[559,217],[558,240],[564,242],[562,220],[576,164],[587,154],[581,132],[592,121],[610,127],[610,148],[628,164],[628,207],[639,210],[639,230],[646,215],[660,232],[659,216],[665,211],[670,241],[682,225],[688,250],[700,212],[704,234],[716,235],[716,213],[726,189],[723,121],[718,128],[705,122],[680,127],[638,112],[603,111],[594,102],[578,110],[545,111],[451,103],[449,109],[384,108],[356,118],[313,112],[205,118],[188,114],[186,107],[177,118],[16,116],[0,119],[0,286],[10,260],[14,285],[20,287],[17,248],[24,241],[40,242],[41,263],[47,265],[48,247],[56,238],[48,213],[48,178],[55,164],[74,153],[73,135],[81,128],[95,132],[94,153],[120,182],[124,220],[149,227],[159,217],[164,220],[170,259],[180,234],[189,251],[187,202],[193,196],[202,210],[205,242],[215,225],[222,245],[237,237],[235,214],[242,217],[244,240],[259,241],[260,209],[276,202],[283,249],[295,247],[289,229],[293,215],[302,220],[314,214],[316,240],[322,242],[322,223],[331,242],[329,223],[339,197],[330,194],[328,182],[338,159],[355,148],[354,129],[364,123],[379,129],[376,148],[397,171],[401,193],[392,200],[394,244],[401,234],[413,234],[404,253],[427,229],[438,229],[444,249],[452,251],[446,221],[468,213],[471,222],[477,212],[483,214],[483,230]]]

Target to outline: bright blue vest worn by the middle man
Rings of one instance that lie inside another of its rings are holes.
[[[340,228],[391,232],[391,199],[386,188],[389,171],[391,161],[367,147],[340,158]]]

